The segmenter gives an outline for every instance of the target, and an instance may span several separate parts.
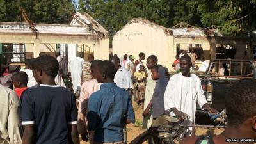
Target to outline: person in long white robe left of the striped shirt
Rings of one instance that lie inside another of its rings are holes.
[[[70,63],[73,90],[76,93],[81,87],[82,65],[84,63],[83,54],[79,53]]]

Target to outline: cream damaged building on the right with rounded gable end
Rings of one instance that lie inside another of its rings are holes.
[[[216,58],[242,59],[246,51],[252,55],[252,47],[256,40],[250,36],[228,38],[216,29],[196,28],[184,22],[165,28],[146,19],[136,18],[129,21],[113,37],[113,54],[124,56],[132,54],[138,58],[140,52],[145,57],[155,54],[159,63],[167,68],[172,68],[175,56],[180,50],[194,49],[198,55],[196,65],[200,65],[200,57],[205,60]]]

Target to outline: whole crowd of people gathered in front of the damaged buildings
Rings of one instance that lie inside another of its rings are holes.
[[[177,56],[170,77],[155,55],[139,59],[125,54],[87,61],[79,53],[70,63],[73,92],[65,88],[67,61],[41,53],[15,68],[10,84],[0,84],[0,143],[127,143],[126,125],[135,122],[132,97],[143,104],[143,128],[169,124],[189,116],[195,124],[196,104],[218,113],[205,99],[201,81],[191,74],[195,52]],[[1,76],[10,62],[1,58]],[[177,66],[179,65],[179,67]],[[147,68],[145,68],[147,67]],[[2,77],[1,77],[2,78]],[[6,78],[6,77],[4,77]],[[183,143],[225,143],[227,138],[256,138],[256,81],[237,82],[227,93],[228,126],[219,136],[193,136]],[[13,89],[13,90],[12,90]],[[79,100],[75,97],[79,93]],[[193,129],[191,129],[193,131]]]

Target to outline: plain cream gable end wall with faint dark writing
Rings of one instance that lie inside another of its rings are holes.
[[[145,59],[155,54],[159,64],[171,68],[173,62],[173,36],[166,35],[156,25],[132,23],[118,31],[113,38],[113,54],[123,57],[132,54],[138,60],[138,54],[145,53]],[[144,65],[146,64],[144,60]]]

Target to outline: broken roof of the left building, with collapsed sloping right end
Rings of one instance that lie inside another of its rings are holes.
[[[35,31],[31,31],[31,26]],[[88,13],[75,13],[70,25],[67,24],[35,24],[26,22],[0,22],[0,33],[26,33],[36,35],[91,35],[97,38],[108,38],[104,29]],[[37,37],[36,37],[37,38]]]

